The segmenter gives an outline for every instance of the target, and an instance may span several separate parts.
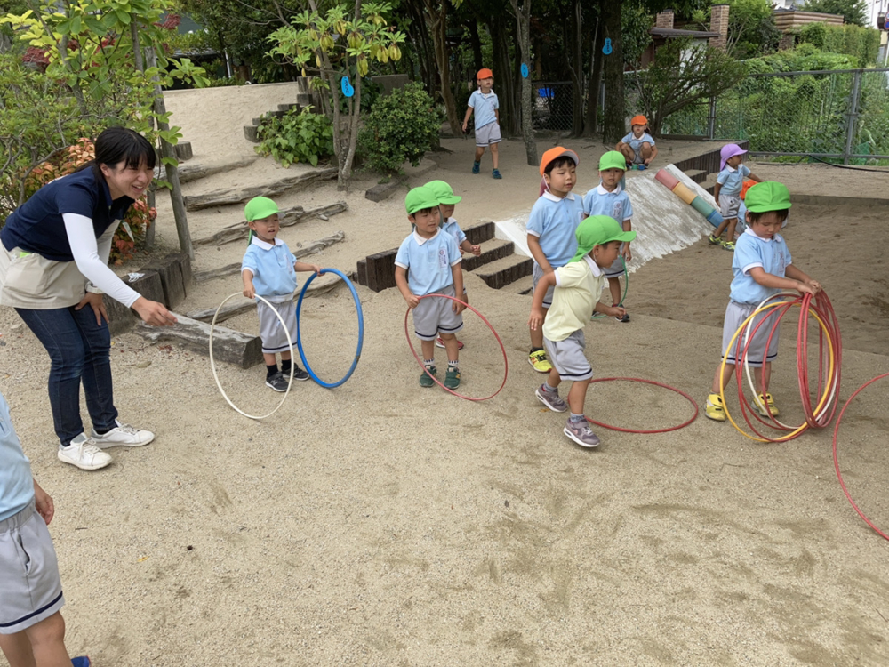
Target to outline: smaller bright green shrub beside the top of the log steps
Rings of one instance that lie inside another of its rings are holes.
[[[301,112],[291,109],[280,118],[263,117],[257,135],[261,141],[256,152],[274,157],[285,167],[294,162],[316,166],[322,157],[333,155],[333,125],[328,117],[313,114],[310,108]]]

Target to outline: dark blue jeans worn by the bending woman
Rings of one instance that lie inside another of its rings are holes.
[[[50,406],[52,422],[62,446],[84,432],[80,418],[80,383],[84,383],[86,408],[92,428],[105,432],[117,425],[114,390],[111,386],[111,333],[108,322],[96,324],[89,305],[80,310],[59,308],[16,312],[50,354]]]

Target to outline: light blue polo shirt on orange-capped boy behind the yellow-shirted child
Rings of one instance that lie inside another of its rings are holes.
[[[577,252],[574,232],[583,219],[581,197],[569,192],[559,199],[548,190],[534,202],[525,227],[528,234],[538,238],[543,256],[556,269],[565,266]]]

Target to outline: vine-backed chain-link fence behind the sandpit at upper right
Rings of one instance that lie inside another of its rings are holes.
[[[889,159],[889,68],[750,75],[670,115],[661,133],[747,139],[763,156]]]

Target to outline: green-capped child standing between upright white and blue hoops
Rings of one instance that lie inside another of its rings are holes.
[[[277,237],[281,230],[278,207],[268,197],[253,197],[244,207],[244,216],[250,226],[251,239],[241,262],[241,279],[244,296],[253,299],[259,294],[272,304],[275,310],[256,300],[256,313],[260,317],[262,358],[266,363],[266,386],[276,391],[286,391],[290,386],[291,364],[294,380],[308,380],[308,373],[291,359],[291,342],[296,344],[296,271],[321,273],[317,264],[297,261],[290,248]],[[284,319],[286,332],[275,311]],[[281,354],[281,370],[278,371],[275,355]]]

